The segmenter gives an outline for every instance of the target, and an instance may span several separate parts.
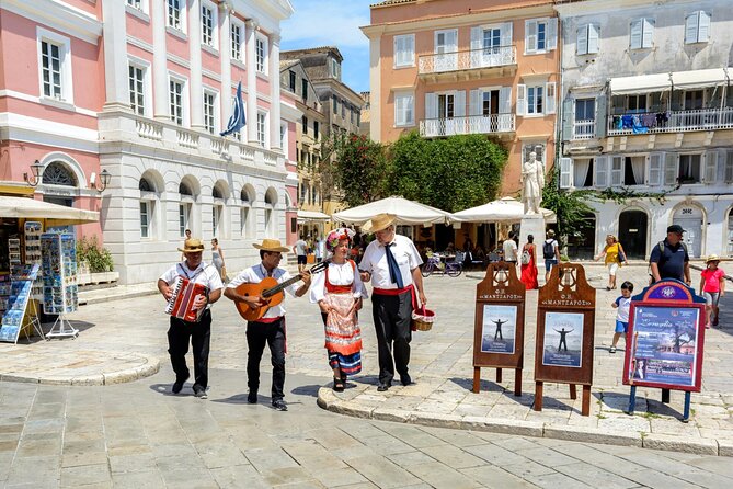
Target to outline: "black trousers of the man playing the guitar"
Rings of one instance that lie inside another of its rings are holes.
[[[275,322],[249,321],[247,323],[247,386],[256,393],[260,388],[260,361],[265,343],[270,346],[273,365],[273,400],[283,399],[285,394],[285,318]]]

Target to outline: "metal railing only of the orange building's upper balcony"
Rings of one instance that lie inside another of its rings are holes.
[[[420,75],[443,73],[479,68],[495,68],[517,64],[515,46],[497,46],[423,55],[417,62]]]

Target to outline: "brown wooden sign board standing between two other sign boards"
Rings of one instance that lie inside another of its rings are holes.
[[[545,382],[583,385],[582,414],[591,413],[596,291],[582,265],[561,263],[539,289],[535,350],[535,410],[542,410]]]

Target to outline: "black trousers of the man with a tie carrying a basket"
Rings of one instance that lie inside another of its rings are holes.
[[[412,331],[412,294],[371,295],[371,315],[377,332],[379,352],[379,382],[389,384],[394,378],[394,368],[400,375],[408,374]],[[393,345],[393,346],[392,346]],[[392,362],[392,348],[394,361]]]

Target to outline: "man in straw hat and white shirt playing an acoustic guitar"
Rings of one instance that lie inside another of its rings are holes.
[[[267,303],[260,295],[244,296],[237,292],[241,284],[259,284],[265,277],[273,277],[277,283],[291,278],[290,274],[278,268],[283,253],[290,251],[280,244],[278,239],[263,239],[262,243],[253,243],[260,250],[261,262],[241,271],[229,284],[224,295],[236,303],[245,303],[252,309],[266,306]],[[302,285],[298,287],[291,284],[285,291],[294,297],[301,297],[310,287],[310,272],[300,273]],[[256,321],[247,322],[247,385],[249,394],[247,401],[251,405],[257,402],[257,389],[260,388],[260,361],[265,349],[270,346],[270,355],[273,364],[272,405],[278,411],[287,411],[285,403],[285,308],[278,304],[267,308],[267,311]]]

